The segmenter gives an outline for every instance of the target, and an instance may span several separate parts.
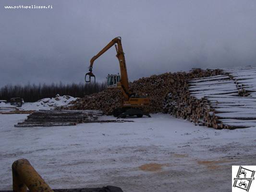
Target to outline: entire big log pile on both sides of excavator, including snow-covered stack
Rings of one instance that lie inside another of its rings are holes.
[[[256,68],[194,69],[163,73],[130,83],[132,92],[147,95],[149,113],[169,113],[216,129],[256,126]],[[111,114],[122,106],[118,89],[108,89],[73,102],[69,109],[100,109]]]

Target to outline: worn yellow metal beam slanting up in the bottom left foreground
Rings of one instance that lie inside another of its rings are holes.
[[[13,192],[53,192],[27,159],[18,159],[12,164]]]

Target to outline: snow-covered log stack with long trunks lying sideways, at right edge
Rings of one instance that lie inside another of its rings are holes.
[[[216,129],[256,127],[256,68],[188,81],[190,98],[179,116]]]

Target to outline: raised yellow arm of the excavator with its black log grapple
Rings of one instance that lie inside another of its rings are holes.
[[[101,51],[98,52],[97,55],[93,56],[90,60],[90,66],[89,66],[89,72],[85,74],[85,82],[90,83],[91,77],[95,78],[95,75],[92,72],[94,61],[97,60],[103,53],[105,53],[107,50],[109,50],[113,45],[115,45],[116,48],[116,57],[120,64],[120,72],[121,72],[121,84],[122,88],[125,92],[129,93],[129,82],[128,82],[128,75],[127,75],[127,69],[126,69],[126,63],[124,58],[124,52],[122,50],[122,43],[121,43],[121,37],[118,36],[110,41],[108,45],[106,45]],[[86,80],[88,79],[88,80]]]

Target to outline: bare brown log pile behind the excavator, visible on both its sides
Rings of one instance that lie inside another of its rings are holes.
[[[177,105],[183,105],[183,98],[189,96],[188,79],[219,75],[220,72],[221,70],[218,69],[167,72],[134,81],[130,83],[130,88],[133,93],[149,96],[150,105],[144,108],[146,112],[168,112],[168,109],[163,108],[167,94],[171,92],[172,100],[176,101]],[[66,107],[66,109],[97,109],[102,110],[104,114],[110,115],[113,109],[122,107],[122,100],[123,97],[120,90],[107,89],[71,102],[73,106]]]

